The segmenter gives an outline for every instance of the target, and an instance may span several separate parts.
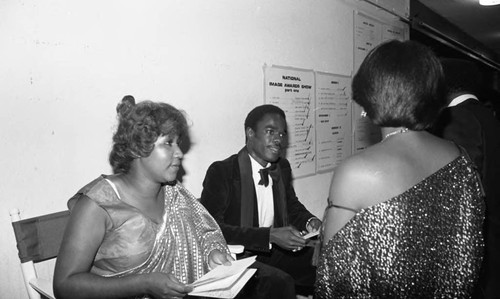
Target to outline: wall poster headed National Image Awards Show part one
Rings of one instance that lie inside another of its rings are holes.
[[[286,158],[295,178],[316,172],[315,82],[312,70],[264,66],[265,103],[285,111]]]

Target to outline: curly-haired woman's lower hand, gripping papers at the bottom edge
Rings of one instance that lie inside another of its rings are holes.
[[[182,298],[193,290],[192,286],[179,282],[172,274],[155,272],[144,275],[148,276],[146,279],[148,294],[154,298]]]

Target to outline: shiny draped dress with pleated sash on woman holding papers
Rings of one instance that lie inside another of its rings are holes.
[[[163,221],[155,223],[121,201],[104,178],[84,187],[85,194],[108,213],[111,227],[98,249],[91,272],[102,276],[172,273],[192,283],[208,271],[214,249],[229,253],[215,220],[180,183],[166,185]]]

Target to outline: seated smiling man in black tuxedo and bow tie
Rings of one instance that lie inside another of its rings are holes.
[[[295,297],[294,284],[297,293],[312,292],[314,248],[307,246],[303,235],[321,227],[299,202],[290,163],[280,157],[286,128],[280,108],[254,108],[245,119],[245,147],[208,168],[201,194],[201,203],[219,223],[228,244],[244,245],[246,255],[257,255],[261,281],[276,280],[271,288],[281,285],[275,288],[276,298]],[[290,276],[292,283],[283,283]]]

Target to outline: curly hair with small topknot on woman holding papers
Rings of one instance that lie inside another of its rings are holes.
[[[187,133],[186,118],[175,107],[161,102],[143,101],[135,104],[133,96],[125,96],[116,107],[118,128],[113,135],[109,163],[113,173],[127,173],[132,161],[148,157],[160,136]]]

